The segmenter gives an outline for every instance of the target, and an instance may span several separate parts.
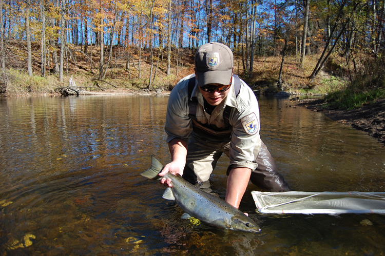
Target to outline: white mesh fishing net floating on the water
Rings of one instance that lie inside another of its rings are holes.
[[[385,192],[252,191],[252,195],[261,213],[385,214]]]

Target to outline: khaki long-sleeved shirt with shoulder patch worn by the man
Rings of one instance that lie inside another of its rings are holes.
[[[195,76],[195,74],[184,77],[170,93],[165,124],[167,143],[173,139],[188,142],[192,131],[192,121],[188,116],[188,80],[192,76]],[[243,86],[241,86],[236,97],[233,79],[227,97],[214,109],[211,115],[204,111],[203,96],[198,88],[197,81],[191,97],[196,96],[198,99],[196,117],[201,124],[226,128],[223,121],[223,112],[226,105],[233,107],[229,116],[229,124],[233,127],[229,149],[229,168],[247,167],[254,170],[257,168],[257,164],[254,163],[256,158],[254,154],[258,153],[261,147],[259,107],[252,89],[242,80],[241,83]],[[207,139],[205,140],[207,141]],[[207,143],[210,143],[210,141],[207,141]],[[218,141],[213,143],[218,143]]]

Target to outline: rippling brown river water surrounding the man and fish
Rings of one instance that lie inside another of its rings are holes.
[[[0,100],[0,255],[379,255],[378,214],[262,215],[259,234],[181,220],[164,187],[139,173],[169,161],[167,96]],[[385,149],[361,131],[258,97],[261,138],[299,191],[384,191]],[[224,198],[225,156],[211,179]]]

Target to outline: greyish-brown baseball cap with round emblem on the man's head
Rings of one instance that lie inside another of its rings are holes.
[[[227,85],[232,77],[234,56],[221,43],[207,43],[195,53],[195,72],[199,86],[218,83]]]

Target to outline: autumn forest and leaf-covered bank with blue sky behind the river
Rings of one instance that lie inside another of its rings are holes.
[[[207,42],[228,45],[252,87],[385,84],[384,0],[0,0],[0,9],[2,93],[31,79],[23,75],[170,88]],[[325,72],[332,83],[320,81]]]

